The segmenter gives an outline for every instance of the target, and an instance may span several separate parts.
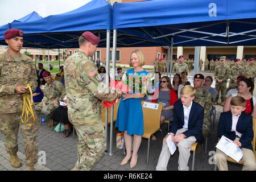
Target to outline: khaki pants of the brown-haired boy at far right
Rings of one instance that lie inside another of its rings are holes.
[[[249,150],[247,148],[241,148],[243,152],[242,156],[242,162],[243,162],[243,168],[242,171],[255,171],[256,170],[256,162],[255,162],[255,156],[253,154],[252,150]],[[228,155],[226,155],[221,150],[216,150],[216,162],[218,166],[218,170],[220,171],[228,171],[228,162],[226,159],[228,158]]]

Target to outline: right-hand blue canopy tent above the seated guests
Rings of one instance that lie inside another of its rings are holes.
[[[115,3],[113,28],[171,46],[251,46],[256,44],[254,0],[151,0]],[[253,40],[253,41],[252,41]]]

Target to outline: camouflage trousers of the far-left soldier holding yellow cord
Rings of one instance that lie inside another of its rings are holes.
[[[38,131],[38,123],[33,126],[27,126],[20,122],[22,113],[0,114],[0,130],[5,135],[5,148],[8,154],[15,155],[18,152],[18,131],[19,127],[25,143],[25,154],[27,166],[36,164],[37,148],[36,133]],[[32,123],[32,119],[28,121]]]

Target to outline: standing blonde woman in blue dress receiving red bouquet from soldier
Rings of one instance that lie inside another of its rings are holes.
[[[134,168],[137,164],[137,152],[144,133],[141,101],[147,94],[147,85],[150,81],[148,72],[142,68],[144,63],[145,59],[141,50],[131,52],[130,66],[134,68],[127,69],[122,77],[122,82],[129,86],[130,90],[128,93],[123,92],[115,123],[115,127],[118,127],[119,131],[125,132],[127,152],[121,166],[127,164],[131,159],[130,168]],[[131,154],[131,135],[134,135],[133,154]]]

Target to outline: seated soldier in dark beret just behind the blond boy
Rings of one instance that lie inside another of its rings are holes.
[[[194,101],[204,107],[204,124],[203,124],[203,136],[207,138],[210,133],[210,110],[212,110],[213,101],[212,93],[209,90],[203,88],[204,76],[196,74],[194,76],[194,87],[196,89],[196,96]]]

